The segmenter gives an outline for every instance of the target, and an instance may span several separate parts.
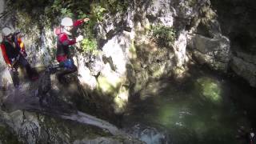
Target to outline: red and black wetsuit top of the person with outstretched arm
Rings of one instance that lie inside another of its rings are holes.
[[[78,20],[74,22],[74,27],[80,26],[83,23],[83,20]],[[58,34],[57,40],[57,53],[56,58],[58,62],[64,62],[70,54],[70,45],[74,45],[76,43],[76,39],[70,39],[69,35],[60,30]]]

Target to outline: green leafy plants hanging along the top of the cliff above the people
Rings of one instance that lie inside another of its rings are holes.
[[[96,35],[94,26],[102,22],[106,13],[115,14],[124,13],[130,1],[118,0],[19,0],[7,1],[9,10],[17,10],[18,12],[18,29],[23,30],[26,34],[36,35],[39,31],[32,30],[34,28],[53,29],[58,26],[64,17],[73,19],[90,18],[90,21],[81,28],[85,39],[82,41],[82,52],[95,54],[97,51]]]

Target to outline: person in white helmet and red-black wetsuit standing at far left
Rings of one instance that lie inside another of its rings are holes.
[[[2,56],[9,67],[10,75],[13,80],[14,86],[18,87],[18,66],[23,66],[26,68],[26,73],[28,76],[35,80],[38,78],[38,73],[33,70],[26,60],[26,50],[22,39],[19,37],[18,33],[12,34],[9,27],[4,27],[2,29],[2,42],[1,50]]]

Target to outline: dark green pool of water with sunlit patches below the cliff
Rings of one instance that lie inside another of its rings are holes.
[[[124,125],[167,131],[172,143],[236,144],[253,126],[255,90],[210,71],[191,70],[183,82],[164,80],[130,98]]]

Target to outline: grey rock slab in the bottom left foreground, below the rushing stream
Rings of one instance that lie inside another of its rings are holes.
[[[5,123],[4,127],[7,130],[13,130],[12,136],[9,135],[9,138],[13,139],[1,138],[2,142],[7,143],[143,143],[135,138],[111,136],[91,126],[82,126],[76,122],[22,110],[16,110],[10,114],[1,110],[0,115],[1,121]]]

